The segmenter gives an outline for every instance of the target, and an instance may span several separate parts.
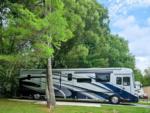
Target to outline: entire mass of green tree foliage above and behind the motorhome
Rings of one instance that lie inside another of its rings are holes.
[[[129,67],[145,83],[128,41],[111,34],[108,11],[96,0],[1,0],[3,92],[14,95],[20,69],[46,68],[49,57],[53,68]]]

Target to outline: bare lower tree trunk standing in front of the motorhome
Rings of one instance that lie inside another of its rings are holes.
[[[47,96],[47,106],[51,109],[56,104],[54,86],[53,86],[51,58],[48,59],[48,63],[47,63],[46,96]]]

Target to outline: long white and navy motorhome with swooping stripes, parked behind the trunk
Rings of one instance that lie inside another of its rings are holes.
[[[20,71],[22,96],[45,95],[46,70]],[[138,102],[134,89],[134,74],[129,68],[53,69],[56,98],[101,100],[113,104]]]

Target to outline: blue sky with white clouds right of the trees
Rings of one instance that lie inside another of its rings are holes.
[[[150,0],[97,0],[108,9],[112,34],[129,42],[136,67],[150,67]]]

